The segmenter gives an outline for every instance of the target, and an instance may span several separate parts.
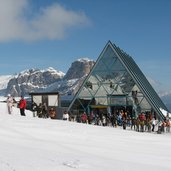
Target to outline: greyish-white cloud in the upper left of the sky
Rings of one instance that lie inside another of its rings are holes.
[[[62,39],[68,29],[89,23],[83,12],[67,10],[57,3],[36,13],[30,10],[28,0],[0,0],[0,42]]]

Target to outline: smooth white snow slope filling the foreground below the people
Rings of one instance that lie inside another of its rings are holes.
[[[7,114],[0,103],[0,171],[170,171],[171,134]]]

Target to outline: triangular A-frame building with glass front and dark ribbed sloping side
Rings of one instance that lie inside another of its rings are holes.
[[[116,113],[119,109],[125,109],[135,116],[141,112],[151,112],[164,120],[160,108],[168,111],[132,57],[109,41],[68,111],[79,115],[92,111]]]

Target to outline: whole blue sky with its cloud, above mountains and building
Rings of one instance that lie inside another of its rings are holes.
[[[0,75],[29,68],[67,72],[96,60],[110,40],[143,73],[171,87],[170,0],[0,0]]]

